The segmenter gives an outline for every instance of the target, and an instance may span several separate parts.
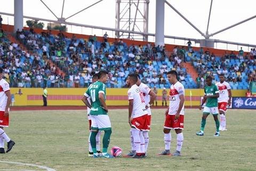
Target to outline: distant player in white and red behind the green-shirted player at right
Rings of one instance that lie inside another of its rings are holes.
[[[225,113],[227,111],[227,105],[231,104],[231,87],[229,83],[225,82],[225,75],[220,74],[219,76],[220,82],[216,83],[219,89],[219,98],[218,98],[218,108],[220,111],[220,131],[227,131],[226,128],[226,116]]]

